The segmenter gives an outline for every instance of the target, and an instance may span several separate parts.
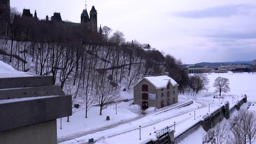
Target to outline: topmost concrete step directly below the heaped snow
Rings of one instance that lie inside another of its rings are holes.
[[[52,76],[1,78],[0,89],[52,86]]]

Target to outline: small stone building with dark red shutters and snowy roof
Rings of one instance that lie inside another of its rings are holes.
[[[167,73],[168,74],[168,73]],[[143,77],[134,88],[134,104],[143,109],[163,108],[178,102],[179,84],[169,76]]]

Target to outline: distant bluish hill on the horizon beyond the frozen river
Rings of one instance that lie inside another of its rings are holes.
[[[197,66],[226,66],[232,64],[250,65],[252,61],[235,61],[235,62],[200,62],[193,65]]]

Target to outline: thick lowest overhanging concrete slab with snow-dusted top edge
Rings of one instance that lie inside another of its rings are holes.
[[[0,131],[72,115],[72,96],[0,100]]]

